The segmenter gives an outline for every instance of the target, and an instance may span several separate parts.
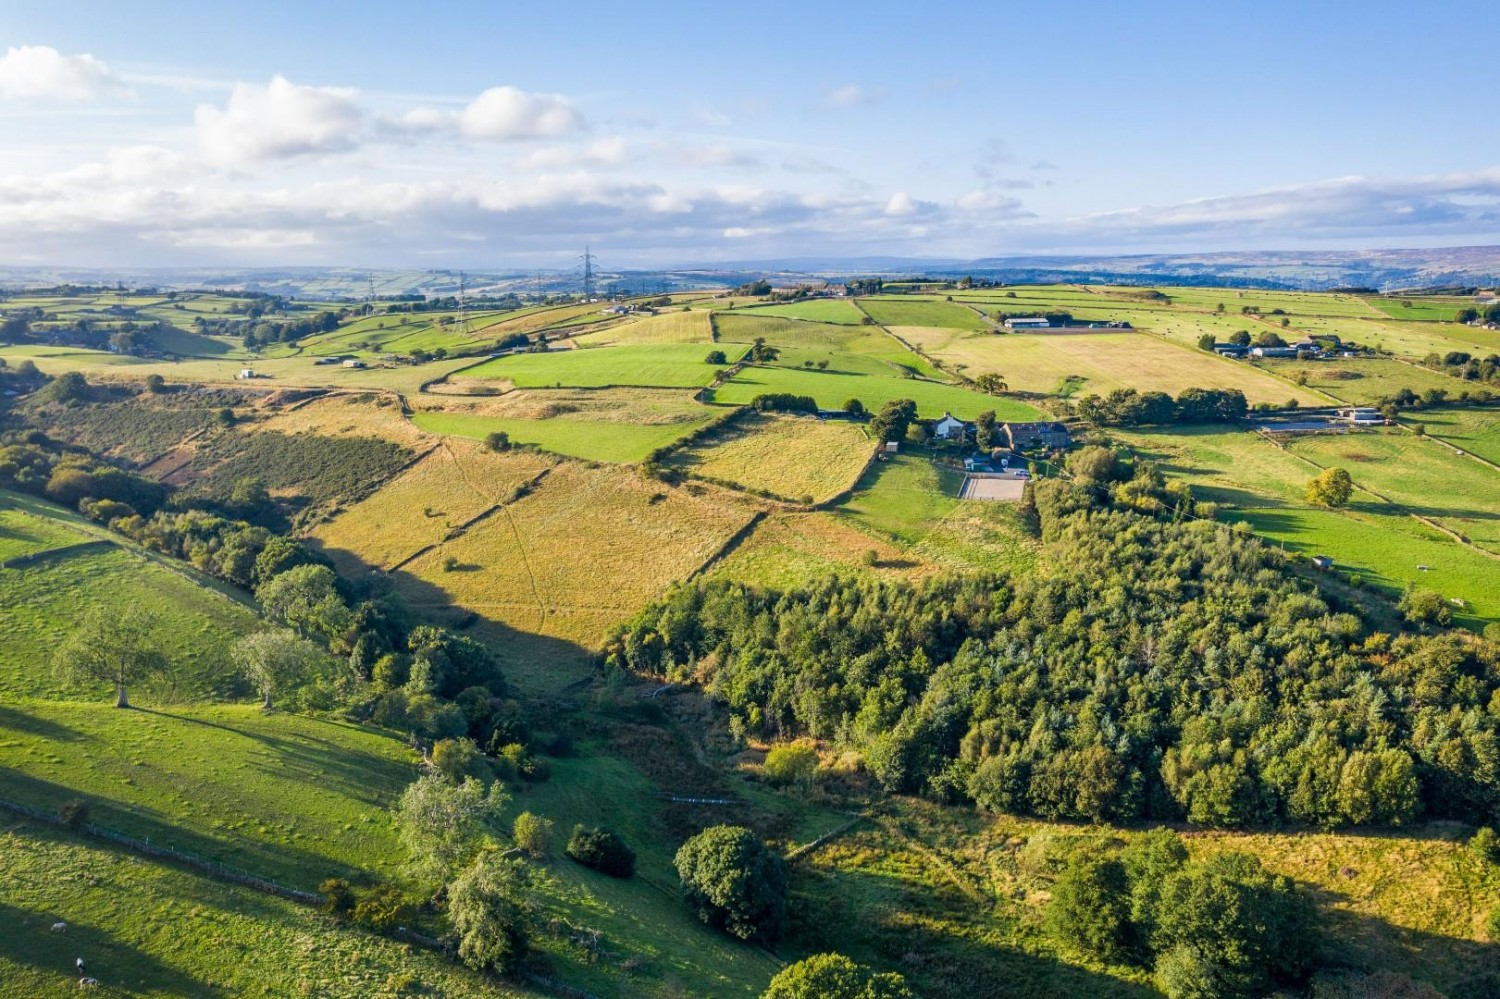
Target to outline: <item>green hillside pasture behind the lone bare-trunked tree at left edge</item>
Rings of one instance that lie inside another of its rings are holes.
[[[0,494],[0,502],[9,506],[4,526],[15,532],[9,540],[14,546],[62,548],[108,537],[98,528],[70,530],[66,514],[22,513],[24,498],[12,494]],[[148,615],[162,651],[174,664],[171,676],[154,687],[159,699],[236,690],[225,648],[256,624],[254,610],[230,598],[222,586],[216,588],[186,566],[140,554],[123,538],[112,548],[90,548],[22,568],[0,568],[0,634],[4,634],[0,692],[12,698],[106,696],[102,686],[63,684],[52,672],[52,656],[81,608],[140,609]],[[146,690],[138,693],[142,699],[148,696]]]

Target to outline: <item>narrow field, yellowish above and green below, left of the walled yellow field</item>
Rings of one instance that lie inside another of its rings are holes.
[[[600,462],[639,462],[710,423],[717,412],[686,392],[538,388],[494,398],[430,396],[412,422],[432,434],[516,444]]]

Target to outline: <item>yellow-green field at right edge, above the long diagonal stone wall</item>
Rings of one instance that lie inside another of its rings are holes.
[[[1324,468],[1348,470],[1356,484],[1500,554],[1500,471],[1490,465],[1400,430],[1308,436],[1288,447]]]

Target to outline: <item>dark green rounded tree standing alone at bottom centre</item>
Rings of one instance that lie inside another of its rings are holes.
[[[698,918],[741,940],[776,940],[786,926],[786,861],[738,825],[704,830],[676,852],[682,897]]]

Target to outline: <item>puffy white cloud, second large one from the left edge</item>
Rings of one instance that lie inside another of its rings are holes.
[[[220,166],[345,152],[364,126],[357,98],[351,87],[308,87],[285,76],[266,87],[240,82],[224,108],[198,105],[198,144]]]

